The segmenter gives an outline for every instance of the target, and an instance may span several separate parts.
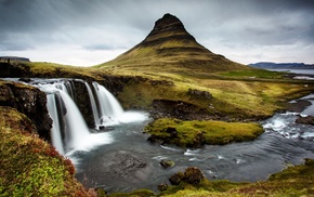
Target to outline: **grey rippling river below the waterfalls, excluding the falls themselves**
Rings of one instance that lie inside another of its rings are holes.
[[[312,103],[313,97],[311,94],[300,100]],[[299,114],[314,115],[314,106]],[[256,182],[289,165],[302,163],[304,158],[314,158],[314,127],[295,123],[299,114],[275,114],[261,121],[265,132],[252,142],[206,145],[198,149],[148,143],[148,135],[142,132],[151,121],[146,118],[112,127],[105,131],[110,143],[69,157],[76,165],[79,181],[107,192],[144,187],[157,191],[158,184],[169,184],[172,174],[192,166],[201,169],[209,180]],[[171,159],[175,165],[165,169],[159,165],[161,159]]]

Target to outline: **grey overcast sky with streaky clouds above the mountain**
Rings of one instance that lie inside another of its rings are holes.
[[[101,64],[166,13],[232,61],[314,63],[313,0],[0,0],[0,56]]]

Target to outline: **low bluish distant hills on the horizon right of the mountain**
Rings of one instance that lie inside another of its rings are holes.
[[[314,64],[304,63],[271,63],[260,62],[249,64],[251,67],[263,68],[263,69],[314,69]]]

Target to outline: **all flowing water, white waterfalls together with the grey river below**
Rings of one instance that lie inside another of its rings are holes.
[[[172,174],[192,166],[210,180],[254,182],[266,180],[290,163],[314,158],[314,127],[295,123],[298,115],[314,115],[314,94],[300,98],[312,104],[303,111],[275,114],[261,121],[265,132],[254,141],[188,149],[148,143],[148,135],[143,133],[152,121],[147,113],[123,111],[103,86],[81,82],[91,100],[94,128],[88,128],[80,115],[70,81],[45,79],[36,86],[48,96],[53,145],[73,160],[76,178],[88,187],[157,191],[158,184],[170,184]],[[109,129],[100,129],[103,127]],[[165,169],[159,165],[162,159],[175,165]]]

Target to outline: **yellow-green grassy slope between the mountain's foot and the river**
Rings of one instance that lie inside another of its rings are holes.
[[[146,74],[145,77],[153,80],[130,81],[125,84],[123,91],[118,94],[123,107],[149,108],[154,100],[182,101],[224,119],[263,119],[284,108],[286,102],[314,90],[309,81],[221,80],[210,76],[197,78],[197,75],[186,77],[176,74]],[[156,80],[165,82],[154,84],[153,81]],[[208,91],[212,98],[191,95],[188,89]]]

